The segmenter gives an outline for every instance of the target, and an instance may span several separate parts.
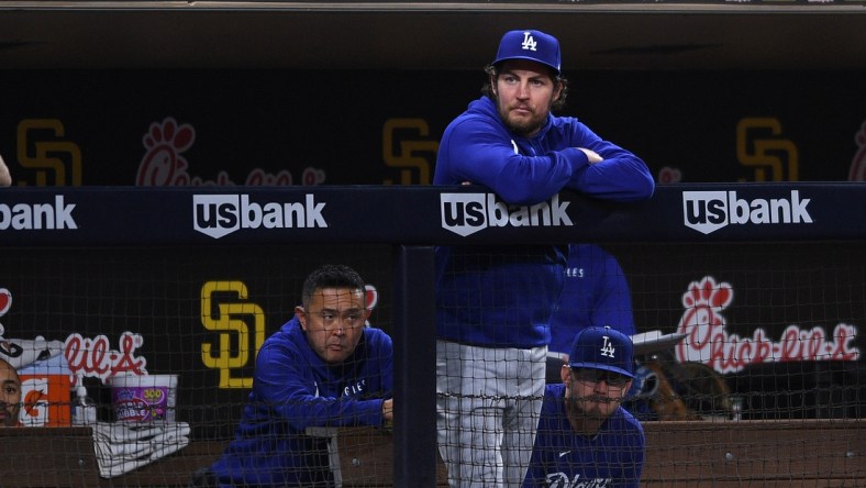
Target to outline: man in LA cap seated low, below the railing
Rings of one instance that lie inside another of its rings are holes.
[[[562,384],[547,385],[524,488],[639,487],[644,431],[623,409],[632,341],[609,326],[578,332]]]

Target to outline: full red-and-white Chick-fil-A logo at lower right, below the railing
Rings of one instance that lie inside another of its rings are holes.
[[[851,342],[857,328],[840,323],[828,337],[822,328],[788,325],[778,342],[767,339],[764,329],[751,337],[729,334],[722,312],[733,302],[734,289],[712,276],[692,281],[682,295],[685,312],[677,332],[686,337],[677,344],[680,363],[704,363],[719,373],[736,373],[748,365],[792,361],[856,361],[859,350]]]

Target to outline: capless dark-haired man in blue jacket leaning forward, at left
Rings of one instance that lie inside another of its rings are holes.
[[[331,487],[334,446],[322,428],[392,420],[391,339],[365,328],[364,286],[341,265],[307,278],[295,318],[258,352],[235,439],[192,486]]]

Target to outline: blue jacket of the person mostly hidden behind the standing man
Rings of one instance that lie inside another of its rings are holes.
[[[634,335],[632,296],[617,258],[596,244],[570,244],[567,259],[551,317],[551,352],[569,354],[577,333],[593,325]]]

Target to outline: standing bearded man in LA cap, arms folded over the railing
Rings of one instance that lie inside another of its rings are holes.
[[[434,185],[485,186],[518,217],[522,206],[553,207],[565,188],[623,202],[652,196],[643,160],[552,114],[567,92],[555,37],[507,32],[486,73],[482,97],[445,129]],[[438,446],[452,486],[523,481],[564,262],[554,245],[436,249]]]

